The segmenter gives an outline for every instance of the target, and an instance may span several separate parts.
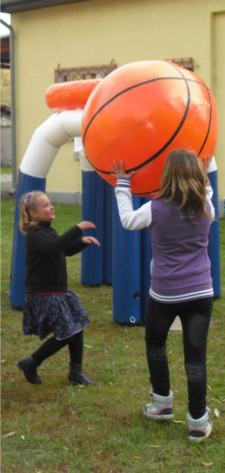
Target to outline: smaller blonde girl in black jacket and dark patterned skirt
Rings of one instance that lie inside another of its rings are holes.
[[[68,345],[71,384],[98,384],[82,371],[83,329],[89,324],[80,298],[67,287],[66,256],[82,251],[90,244],[99,246],[83,230],[95,228],[92,222],[74,225],[58,235],[51,223],[54,207],[46,194],[28,192],[21,199],[20,231],[25,234],[26,297],[23,311],[24,335],[48,338],[32,355],[17,361],[28,382],[40,384],[37,367],[46,358]]]

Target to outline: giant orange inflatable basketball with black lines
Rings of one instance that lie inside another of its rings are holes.
[[[195,73],[167,61],[138,61],[106,76],[89,96],[82,119],[85,155],[115,185],[110,164],[134,170],[132,194],[160,188],[169,151],[213,155],[218,137],[215,99]]]

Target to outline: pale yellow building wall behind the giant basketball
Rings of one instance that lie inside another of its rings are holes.
[[[224,0],[92,0],[12,14],[18,167],[35,128],[53,113],[45,92],[54,83],[58,65],[100,65],[113,59],[121,66],[144,59],[193,57],[195,72],[221,102],[224,130],[224,11]],[[224,171],[223,136],[220,133],[216,150],[219,175]],[[47,191],[81,192],[73,142],[60,149],[47,177]],[[220,176],[219,197],[224,195]]]

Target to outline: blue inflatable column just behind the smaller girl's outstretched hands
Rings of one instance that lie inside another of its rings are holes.
[[[84,286],[100,286],[103,283],[104,254],[104,180],[95,171],[82,170],[82,221],[96,225],[84,235],[95,236],[99,242],[81,253],[81,283]]]

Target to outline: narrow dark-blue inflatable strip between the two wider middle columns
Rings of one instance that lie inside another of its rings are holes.
[[[114,188],[104,181],[104,266],[103,284],[112,285],[113,281],[113,194]]]

